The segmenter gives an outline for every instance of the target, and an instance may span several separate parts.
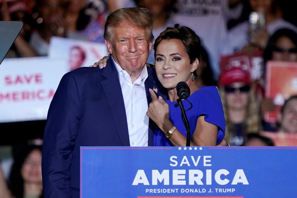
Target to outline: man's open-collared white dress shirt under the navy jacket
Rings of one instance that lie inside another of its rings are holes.
[[[111,56],[112,58],[112,56]],[[113,60],[113,58],[112,58]],[[148,77],[146,66],[132,84],[131,77],[114,60],[119,74],[122,94],[125,103],[130,146],[148,146],[149,117],[146,115],[148,103],[144,81]]]

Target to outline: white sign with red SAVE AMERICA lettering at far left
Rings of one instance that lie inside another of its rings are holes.
[[[0,66],[0,122],[44,120],[62,76],[61,58],[6,58]]]

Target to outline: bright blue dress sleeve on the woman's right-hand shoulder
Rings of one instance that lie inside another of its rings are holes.
[[[215,86],[200,92],[199,115],[204,115],[206,122],[214,124],[218,127],[217,144],[221,142],[225,136],[225,117],[224,110],[219,92]]]

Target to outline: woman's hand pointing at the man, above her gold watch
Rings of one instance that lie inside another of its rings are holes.
[[[157,98],[155,92],[149,89],[153,101],[149,104],[148,112],[146,113],[159,128],[165,132],[172,128],[173,124],[169,120],[169,107],[161,96]]]

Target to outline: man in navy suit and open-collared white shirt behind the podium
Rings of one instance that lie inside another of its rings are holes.
[[[166,91],[146,61],[153,15],[145,8],[111,13],[104,38],[107,67],[83,67],[63,76],[48,110],[42,151],[45,197],[79,197],[80,146],[152,146],[156,125],[146,115],[149,88]],[[156,80],[156,81],[155,81]]]

